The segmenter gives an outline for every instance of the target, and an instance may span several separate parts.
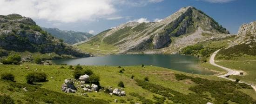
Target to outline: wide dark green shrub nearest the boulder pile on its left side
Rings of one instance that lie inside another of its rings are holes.
[[[33,82],[46,82],[47,75],[43,72],[31,72],[27,75],[27,84],[33,84]]]

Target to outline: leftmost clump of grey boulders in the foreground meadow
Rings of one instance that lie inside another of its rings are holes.
[[[76,88],[74,86],[74,81],[71,79],[65,79],[64,81],[65,83],[62,84],[61,86],[61,91],[64,92],[72,92],[75,93],[76,92]]]

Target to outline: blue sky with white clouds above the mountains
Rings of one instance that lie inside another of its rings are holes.
[[[127,22],[161,21],[188,6],[231,33],[256,20],[256,0],[0,0],[0,15],[17,13],[42,27],[97,34]]]

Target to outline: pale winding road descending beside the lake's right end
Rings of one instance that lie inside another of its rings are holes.
[[[210,64],[211,64],[211,65],[214,65],[214,66],[216,66],[216,67],[222,68],[222,69],[225,70],[225,71],[228,71],[228,73],[226,73],[226,74],[224,74],[224,75],[220,75],[220,76],[218,76],[218,77],[220,77],[220,78],[225,78],[225,79],[228,79],[228,80],[231,80],[231,81],[236,81],[236,80],[234,80],[234,79],[228,78],[227,76],[229,76],[229,75],[239,75],[239,74],[240,74],[239,71],[234,71],[234,70],[232,70],[232,69],[229,69],[229,68],[223,67],[223,66],[221,66],[221,65],[215,64],[214,58],[215,58],[217,52],[219,52],[220,50],[221,50],[221,49],[217,50],[216,52],[214,52],[214,53],[211,55],[210,61],[209,61]],[[253,85],[253,84],[249,84],[249,83],[243,82],[243,81],[239,81],[239,83],[248,84],[248,85],[250,85],[250,86],[254,89],[254,91],[256,91],[256,86]]]

